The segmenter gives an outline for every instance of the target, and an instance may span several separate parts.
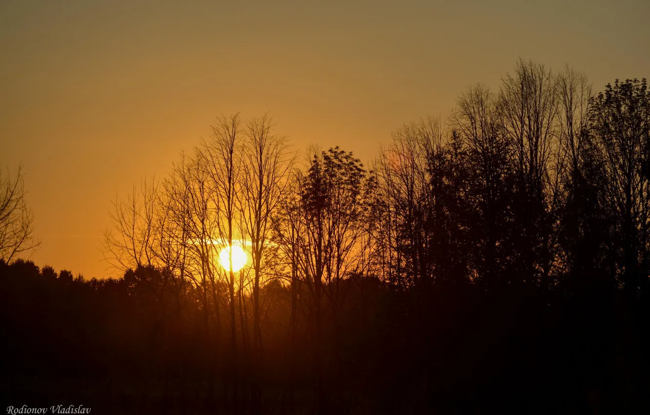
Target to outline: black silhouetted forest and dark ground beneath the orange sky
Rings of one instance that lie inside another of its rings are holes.
[[[650,410],[645,79],[595,94],[519,60],[369,166],[344,146],[295,154],[267,115],[221,116],[110,219],[119,278],[0,260],[16,405]],[[240,271],[219,259],[235,245]]]

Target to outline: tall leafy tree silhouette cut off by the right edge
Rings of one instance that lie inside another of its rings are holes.
[[[616,80],[593,100],[590,135],[604,170],[603,196],[614,220],[617,274],[636,300],[650,276],[650,91],[645,79]]]

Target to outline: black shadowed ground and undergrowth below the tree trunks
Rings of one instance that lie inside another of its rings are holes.
[[[215,336],[207,349],[200,327],[151,314],[124,280],[66,281],[66,274],[52,278],[23,262],[2,265],[0,277],[3,408],[650,412],[647,310],[629,306],[618,291],[562,300],[513,290],[487,295],[469,286],[399,293],[367,279],[350,289],[348,303],[357,306],[324,329],[323,347],[305,327],[292,343],[269,315],[274,336],[259,363],[240,355],[233,364],[227,341]]]

